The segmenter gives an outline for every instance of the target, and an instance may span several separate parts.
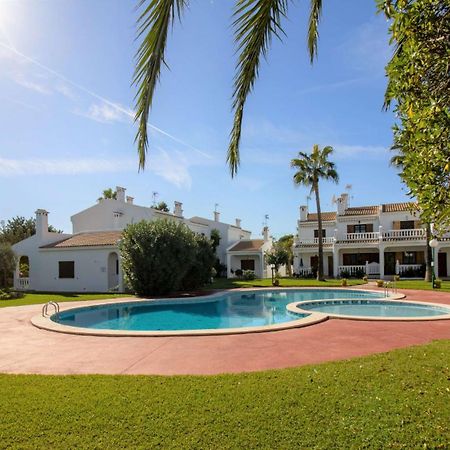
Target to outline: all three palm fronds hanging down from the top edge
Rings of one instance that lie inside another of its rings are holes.
[[[189,0],[137,0],[141,11],[137,20],[137,38],[141,41],[136,53],[133,84],[137,87],[135,121],[139,169],[145,168],[148,149],[148,118],[161,66],[167,65],[167,35],[175,16],[181,19]],[[267,57],[272,37],[284,35],[282,19],[288,13],[289,0],[235,0],[233,12],[234,40],[237,47],[236,74],[233,89],[234,122],[230,133],[227,162],[231,176],[239,167],[244,106],[258,77],[261,57]],[[322,0],[310,0],[307,45],[311,63],[317,55],[318,25]]]

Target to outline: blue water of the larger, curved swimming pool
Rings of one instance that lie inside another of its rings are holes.
[[[338,289],[248,291],[190,303],[177,300],[164,304],[140,301],[76,308],[60,313],[58,318],[53,316],[52,320],[74,327],[137,331],[256,327],[298,320],[309,315],[289,313],[286,310],[288,303],[379,296],[379,293]]]

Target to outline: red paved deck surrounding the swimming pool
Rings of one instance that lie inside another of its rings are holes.
[[[450,304],[450,293],[401,291]],[[117,299],[115,300],[117,301]],[[83,302],[83,304],[87,304]],[[79,305],[64,303],[64,307]],[[96,337],[40,330],[42,305],[0,309],[0,372],[35,374],[218,374],[295,367],[450,339],[450,320],[331,319],[306,328],[225,336]]]

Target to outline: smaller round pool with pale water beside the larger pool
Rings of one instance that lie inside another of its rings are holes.
[[[318,300],[297,303],[303,311],[320,312],[329,316],[421,319],[448,316],[450,306],[392,300]]]

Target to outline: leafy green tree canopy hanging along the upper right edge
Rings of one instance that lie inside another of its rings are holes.
[[[378,0],[395,50],[386,68],[400,177],[422,219],[450,224],[450,2]]]

